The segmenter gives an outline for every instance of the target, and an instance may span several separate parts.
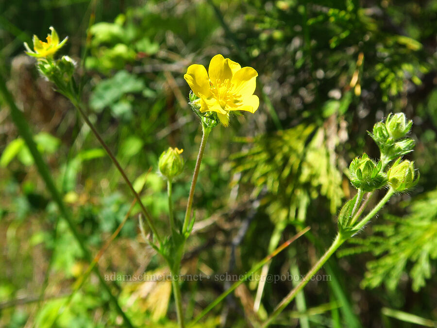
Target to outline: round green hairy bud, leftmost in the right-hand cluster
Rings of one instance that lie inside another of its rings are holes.
[[[386,173],[382,171],[382,162],[376,164],[366,153],[361,158],[353,159],[349,171],[353,186],[364,192],[382,188],[387,183]]]

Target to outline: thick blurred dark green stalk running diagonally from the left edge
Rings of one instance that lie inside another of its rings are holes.
[[[53,197],[53,201],[56,203],[56,205],[59,208],[59,211],[61,212],[62,217],[67,221],[68,227],[70,228],[74,239],[78,242],[82,253],[84,254],[85,259],[88,262],[91,262],[91,253],[85,246],[85,242],[82,239],[82,236],[79,234],[79,231],[76,229],[76,223],[73,220],[73,217],[71,216],[71,213],[68,211],[67,207],[64,204],[64,201],[62,199],[62,196],[58,189],[56,188],[53,179],[51,178],[52,174],[50,173],[49,167],[44,162],[41,154],[39,153],[38,149],[36,148],[36,144],[34,142],[34,139],[32,137],[31,130],[29,128],[29,125],[27,124],[26,120],[23,117],[23,114],[19,111],[17,108],[17,105],[14,102],[14,99],[12,98],[12,95],[9,93],[8,89],[6,88],[6,83],[3,80],[3,77],[0,75],[0,92],[3,94],[3,98],[6,101],[6,103],[9,105],[10,111],[11,111],[11,117],[14,121],[15,125],[17,126],[18,132],[26,142],[27,147],[29,148],[30,153],[32,154],[32,157],[34,158],[35,165],[39,171],[39,174],[43,178],[44,182],[46,183],[47,189],[50,191],[51,196]],[[129,318],[126,316],[126,314],[121,309],[120,305],[118,304],[117,297],[114,296],[114,294],[111,292],[111,289],[106,284],[103,276],[101,275],[99,269],[97,267],[94,267],[93,271],[95,274],[99,277],[99,281],[101,282],[101,285],[106,293],[109,295],[110,301],[113,303],[115,308],[117,309],[118,313],[121,315],[121,317],[124,319],[124,325],[127,327],[133,327]]]

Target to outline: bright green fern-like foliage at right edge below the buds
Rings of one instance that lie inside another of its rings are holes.
[[[394,290],[404,272],[409,271],[412,288],[419,291],[431,277],[432,260],[437,259],[437,190],[412,202],[405,218],[388,215],[389,224],[374,226],[374,237],[353,238],[356,247],[337,253],[345,256],[371,252],[377,259],[367,263],[362,287],[384,283]],[[410,265],[412,264],[412,265]]]

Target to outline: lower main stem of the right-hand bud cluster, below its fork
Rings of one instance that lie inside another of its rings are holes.
[[[328,248],[328,250],[323,254],[323,256],[317,261],[317,263],[311,268],[311,270],[303,277],[299,285],[297,285],[286,297],[278,304],[273,313],[269,316],[269,318],[264,322],[261,326],[262,328],[269,327],[271,322],[281,313],[286,306],[294,299],[294,297],[299,293],[303,287],[311,280],[311,278],[320,270],[320,268],[325,264],[325,262],[334,254],[340,245],[345,242],[345,239],[342,239],[340,235],[336,236],[336,239],[332,243],[332,245]]]

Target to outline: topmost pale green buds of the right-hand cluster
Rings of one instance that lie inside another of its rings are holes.
[[[413,151],[414,140],[405,138],[412,125],[413,121],[407,121],[403,113],[389,114],[385,122],[373,125],[373,133],[369,134],[381,151],[384,165]]]

